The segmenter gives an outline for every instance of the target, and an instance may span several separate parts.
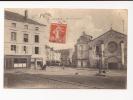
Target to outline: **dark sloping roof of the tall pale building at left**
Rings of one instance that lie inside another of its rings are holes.
[[[20,15],[18,13],[14,13],[11,11],[5,11],[5,19],[13,20],[13,21],[17,21],[17,22],[26,22],[26,23],[34,24],[34,25],[46,26],[46,25],[41,24],[41,23],[34,21],[32,19],[29,19],[29,18],[25,19],[23,15]]]

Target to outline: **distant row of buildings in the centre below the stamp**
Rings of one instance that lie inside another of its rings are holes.
[[[72,49],[55,50],[48,45],[45,46],[46,63],[49,66],[72,66]]]

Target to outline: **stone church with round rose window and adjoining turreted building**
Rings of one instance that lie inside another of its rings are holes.
[[[113,29],[94,39],[84,33],[75,51],[77,67],[99,67],[99,62],[103,68],[127,67],[127,36]]]

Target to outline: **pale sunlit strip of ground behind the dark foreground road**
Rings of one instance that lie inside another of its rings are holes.
[[[46,70],[35,70],[35,69],[10,69],[5,70],[5,73],[28,73],[28,74],[44,74],[44,75],[82,75],[82,76],[90,76],[98,73],[98,69],[94,68],[71,68],[58,66],[47,67]],[[126,76],[126,70],[107,70],[106,76]]]

